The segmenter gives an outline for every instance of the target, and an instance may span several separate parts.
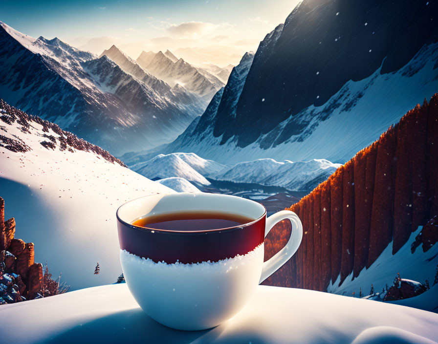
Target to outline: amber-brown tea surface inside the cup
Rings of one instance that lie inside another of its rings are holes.
[[[167,231],[208,231],[241,226],[254,221],[243,215],[220,212],[184,212],[142,216],[131,224],[138,227]]]

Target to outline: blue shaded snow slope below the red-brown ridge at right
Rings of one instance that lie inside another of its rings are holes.
[[[415,237],[420,233],[421,229],[422,226],[419,226],[395,255],[392,254],[393,243],[391,242],[380,254],[379,258],[368,269],[364,268],[359,276],[353,279],[353,273],[351,273],[339,285],[339,275],[337,280],[334,282],[330,281],[327,291],[347,296],[351,296],[353,292],[355,295],[359,295],[360,288],[362,288],[363,292],[366,292],[371,288],[372,283],[375,292],[380,292],[387,284],[388,287],[393,284],[397,273],[400,273],[402,279],[409,279],[415,283],[417,283],[416,281],[424,283],[426,279],[429,279],[429,283],[432,286],[437,268],[438,245],[433,245],[427,252],[423,252],[421,247],[417,247],[415,252],[411,253],[411,244],[415,241]],[[425,300],[428,301],[424,302]],[[391,302],[438,311],[438,284],[414,298]]]

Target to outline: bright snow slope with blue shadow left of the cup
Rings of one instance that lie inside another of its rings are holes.
[[[35,243],[35,261],[72,289],[114,282],[121,274],[115,212],[128,200],[173,190],[85,151],[54,151],[42,126],[24,133],[0,122],[0,134],[22,139],[31,151],[0,147],[0,196],[5,216],[15,217],[16,237]],[[7,131],[4,131],[7,130]],[[16,136],[13,136],[16,135]],[[58,142],[58,141],[57,141]],[[93,275],[99,261],[100,274]]]

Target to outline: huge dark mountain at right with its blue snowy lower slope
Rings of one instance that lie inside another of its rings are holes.
[[[433,1],[304,0],[247,75],[233,70],[197,125],[154,153],[345,162],[437,91],[437,16]]]

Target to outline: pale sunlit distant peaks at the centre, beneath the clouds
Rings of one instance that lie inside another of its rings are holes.
[[[175,59],[175,55],[169,50],[165,54],[161,51],[156,54],[143,51],[137,58],[137,63],[169,85],[179,84],[199,95],[206,102],[209,102],[216,91],[224,86],[224,83],[216,76],[208,72],[200,73],[197,68],[183,59],[176,59],[176,61]]]

